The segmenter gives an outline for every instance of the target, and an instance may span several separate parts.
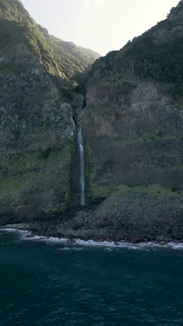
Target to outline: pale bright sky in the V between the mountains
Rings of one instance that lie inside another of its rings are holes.
[[[166,18],[179,0],[21,0],[49,33],[101,55]]]

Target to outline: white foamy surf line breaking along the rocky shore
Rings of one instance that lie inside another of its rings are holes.
[[[44,242],[58,242],[58,243],[67,243],[68,238],[54,238],[54,237],[46,237],[41,235],[33,235],[30,231],[20,230],[18,228],[0,228],[0,231],[3,233],[19,233],[21,240],[32,240],[32,241],[44,241]],[[90,246],[90,247],[105,247],[107,251],[110,251],[112,248],[122,248],[122,249],[133,249],[133,250],[150,250],[150,249],[158,249],[158,248],[166,248],[166,249],[178,249],[183,250],[183,242],[140,242],[137,244],[133,244],[126,241],[121,242],[97,242],[94,240],[81,240],[76,239],[73,244],[70,244],[69,247],[64,247],[59,250],[69,250],[74,248],[74,246]]]

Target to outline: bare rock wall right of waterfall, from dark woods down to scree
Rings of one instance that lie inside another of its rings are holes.
[[[156,84],[90,86],[80,121],[89,153],[89,196],[105,196],[122,184],[183,189],[183,112]]]

